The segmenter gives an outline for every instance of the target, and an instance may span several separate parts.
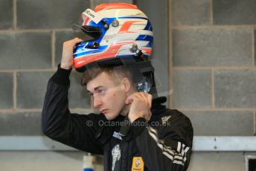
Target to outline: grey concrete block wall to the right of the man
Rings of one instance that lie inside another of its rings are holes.
[[[255,1],[171,3],[173,108],[191,118],[195,135],[254,136]],[[247,154],[193,152],[189,170],[245,170]]]

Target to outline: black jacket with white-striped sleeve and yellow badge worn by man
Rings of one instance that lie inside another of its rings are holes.
[[[58,68],[48,82],[42,110],[42,130],[49,138],[76,149],[103,155],[104,170],[187,170],[191,157],[191,121],[177,110],[153,100],[147,123],[138,118],[124,126],[119,115],[108,121],[103,114],[71,114],[68,109],[70,71]],[[120,129],[125,130],[119,134]],[[141,167],[144,168],[141,169]]]

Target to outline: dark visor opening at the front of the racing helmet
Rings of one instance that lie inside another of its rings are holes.
[[[91,41],[95,39],[99,39],[102,35],[102,32],[99,27],[92,27],[87,25],[72,25],[72,29],[74,30],[75,36],[77,36],[80,39],[83,39],[86,41]]]

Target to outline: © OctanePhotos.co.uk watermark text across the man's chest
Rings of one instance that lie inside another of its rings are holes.
[[[112,120],[98,120],[97,123],[93,123],[92,120],[86,121],[86,126],[91,127],[97,124],[97,126],[125,126],[125,125],[132,125],[132,126],[170,126],[170,122],[162,123],[160,121],[151,121],[151,122],[141,122],[135,121],[130,123],[128,120],[123,121],[112,121]]]

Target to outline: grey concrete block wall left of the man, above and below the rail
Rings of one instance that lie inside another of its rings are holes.
[[[42,135],[46,86],[60,63],[63,42],[74,37],[71,23],[103,2],[117,1],[0,1],[0,136]],[[69,106],[89,113],[91,99],[80,78],[72,72]],[[0,170],[83,170],[83,152],[1,151],[0,156]]]

